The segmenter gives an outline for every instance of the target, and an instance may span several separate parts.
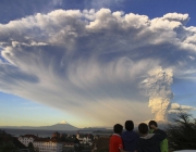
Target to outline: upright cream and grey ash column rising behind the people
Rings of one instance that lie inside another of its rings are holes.
[[[172,69],[162,69],[157,67],[149,73],[142,85],[147,90],[149,96],[149,104],[151,112],[155,114],[156,121],[167,121],[167,113],[170,105],[170,100],[173,98],[173,92],[170,89],[173,83]]]

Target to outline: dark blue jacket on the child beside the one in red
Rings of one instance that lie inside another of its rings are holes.
[[[134,152],[136,150],[136,142],[139,136],[135,131],[124,131],[121,137],[124,150],[127,152]]]

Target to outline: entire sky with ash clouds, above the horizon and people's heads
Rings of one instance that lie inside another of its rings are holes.
[[[1,0],[0,126],[196,116],[195,0]]]

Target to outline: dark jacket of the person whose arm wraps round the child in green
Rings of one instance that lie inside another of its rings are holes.
[[[157,129],[155,134],[140,137],[137,141],[137,152],[161,152],[160,142],[167,138],[163,130]]]

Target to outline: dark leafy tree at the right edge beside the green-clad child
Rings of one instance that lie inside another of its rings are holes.
[[[177,118],[167,127],[170,147],[174,150],[196,149],[196,119],[179,109]]]

